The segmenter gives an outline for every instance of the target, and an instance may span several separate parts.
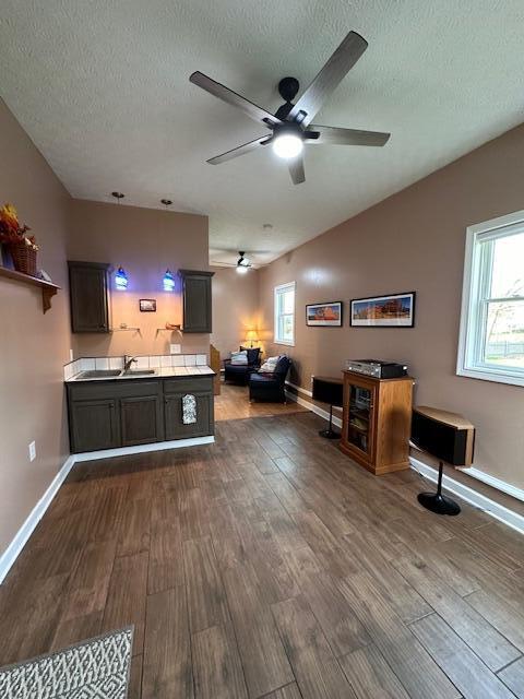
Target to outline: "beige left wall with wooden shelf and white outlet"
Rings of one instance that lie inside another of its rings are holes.
[[[0,554],[69,454],[62,365],[70,333],[66,266],[69,194],[0,100],[0,198],[40,245],[38,266],[62,291],[45,316],[38,289],[0,279]],[[49,407],[52,406],[52,410]],[[36,440],[36,460],[28,443]]]

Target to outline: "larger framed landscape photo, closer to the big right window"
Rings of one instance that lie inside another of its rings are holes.
[[[354,298],[349,324],[355,328],[413,328],[415,292]]]

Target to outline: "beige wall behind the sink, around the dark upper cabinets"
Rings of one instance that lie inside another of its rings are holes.
[[[182,352],[209,353],[207,334],[159,332],[166,322],[181,323],[181,294],[164,292],[166,268],[209,269],[209,226],[206,216],[140,209],[123,204],[73,200],[70,206],[68,259],[122,265],[129,276],[126,292],[115,289],[111,275],[111,324],[140,328],[136,332],[74,334],[75,357],[169,354],[169,344]],[[139,299],[155,298],[156,312],[140,312]]]

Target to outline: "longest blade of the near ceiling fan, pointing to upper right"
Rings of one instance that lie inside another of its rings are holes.
[[[350,71],[367,48],[368,43],[360,34],[349,32],[293,107],[287,117],[288,120],[296,120],[303,123],[303,126],[308,126],[341,80]]]

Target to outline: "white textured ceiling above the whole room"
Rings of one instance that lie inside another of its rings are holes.
[[[385,147],[307,149],[298,187],[270,151],[205,163],[260,128],[191,72],[274,111],[278,80],[305,88],[352,28],[369,48],[315,121],[391,131]],[[523,121],[523,55],[522,0],[2,0],[0,13],[0,95],[71,194],[209,214],[215,262],[274,259]]]

